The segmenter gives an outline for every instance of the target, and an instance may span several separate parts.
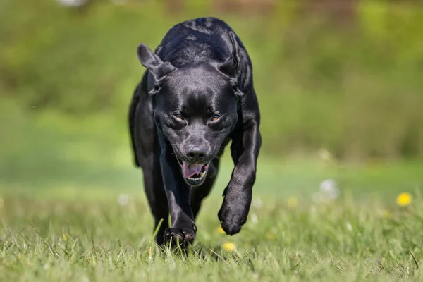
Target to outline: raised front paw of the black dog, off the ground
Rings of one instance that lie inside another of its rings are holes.
[[[223,231],[228,235],[234,235],[240,232],[241,227],[247,221],[248,208],[243,204],[231,203],[223,200],[221,209],[219,210],[219,220]]]

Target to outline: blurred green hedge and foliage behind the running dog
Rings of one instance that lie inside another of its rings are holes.
[[[75,118],[75,125],[81,116],[107,117],[123,129],[144,72],[137,44],[157,45],[180,20],[212,14],[231,24],[252,57],[264,151],[423,156],[422,2],[116,3],[123,2],[91,0],[80,13],[51,0],[0,0],[0,106],[13,99],[25,112],[54,112],[49,120],[64,131],[71,123],[62,126],[59,116]],[[312,14],[331,20],[320,24]],[[339,23],[348,30],[337,30]],[[7,106],[1,111],[19,115]]]

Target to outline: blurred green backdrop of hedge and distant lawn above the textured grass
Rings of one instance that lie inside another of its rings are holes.
[[[419,1],[2,0],[1,191],[141,194],[126,120],[145,71],[135,49],[200,16],[225,20],[252,58],[257,193],[311,195],[328,178],[357,194],[420,188]],[[230,173],[226,154],[217,193]]]

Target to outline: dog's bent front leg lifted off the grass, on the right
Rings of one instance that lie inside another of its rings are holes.
[[[229,235],[240,232],[241,226],[247,221],[261,145],[258,119],[247,121],[243,131],[233,135],[231,152],[235,168],[223,192],[225,197],[219,210],[221,226]]]

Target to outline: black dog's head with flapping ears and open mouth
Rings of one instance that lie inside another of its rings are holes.
[[[152,74],[154,121],[171,143],[185,182],[191,186],[204,182],[209,162],[238,121],[239,46],[232,32],[229,37],[232,54],[216,65],[176,68],[145,44],[137,49],[142,66]]]

